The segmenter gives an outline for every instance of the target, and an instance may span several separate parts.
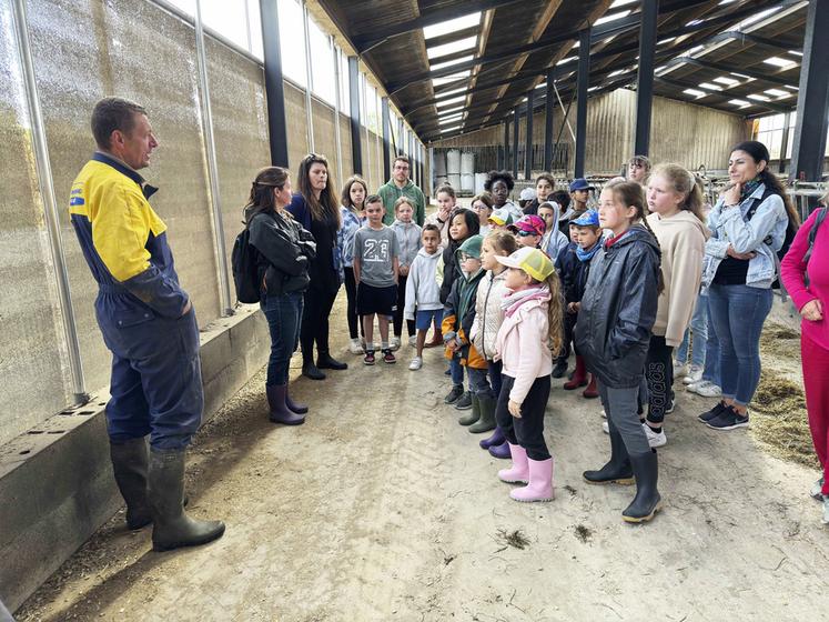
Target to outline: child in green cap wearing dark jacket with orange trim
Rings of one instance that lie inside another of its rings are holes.
[[[481,247],[483,235],[473,235],[464,240],[455,252],[455,263],[461,268],[461,275],[452,283],[452,290],[443,310],[443,340],[446,345],[446,358],[455,359],[466,368],[469,379],[472,412],[458,419],[461,425],[472,425],[481,419],[481,399],[492,399],[493,390],[487,381],[488,365],[486,359],[475,349],[469,339],[472,323],[475,320],[475,298],[478,282],[484,278],[481,265]]]

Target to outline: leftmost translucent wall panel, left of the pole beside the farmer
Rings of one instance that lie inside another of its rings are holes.
[[[71,393],[11,11],[0,3],[0,444]]]

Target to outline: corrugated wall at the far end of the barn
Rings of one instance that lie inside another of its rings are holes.
[[[576,110],[570,108],[569,122],[576,127]],[[636,92],[618,89],[592,98],[587,104],[587,146],[585,168],[588,174],[615,173],[633,156],[636,119]],[[544,143],[545,113],[533,117],[533,141]],[[554,116],[553,138],[562,130],[562,111]],[[522,120],[518,134],[523,143],[526,137],[526,120]],[[666,98],[654,98],[654,116],[650,134],[650,158],[654,161],[673,161],[697,169],[721,169],[728,159],[728,150],[740,140],[749,139],[751,123],[736,114],[711,108],[695,106]],[[512,142],[513,129],[509,129]],[[575,152],[573,138],[567,128],[562,141]],[[486,128],[466,136],[438,141],[433,147],[481,147],[503,144],[504,126]],[[535,163],[538,170],[542,162]],[[570,161],[572,167],[572,161]],[[523,170],[523,163],[519,165]]]

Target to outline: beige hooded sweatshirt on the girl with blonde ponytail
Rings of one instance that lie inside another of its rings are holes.
[[[702,257],[709,232],[705,223],[689,211],[660,218],[648,217],[661,250],[665,290],[659,294],[654,334],[664,335],[667,345],[683,342],[702,279]]]

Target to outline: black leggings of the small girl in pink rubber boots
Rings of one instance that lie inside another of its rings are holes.
[[[498,405],[495,408],[495,421],[501,427],[507,442],[520,445],[527,450],[530,460],[547,460],[549,451],[544,441],[544,409],[549,398],[549,374],[536,378],[529,393],[520,405],[520,419],[509,414],[507,404],[509,391],[513,390],[515,379],[502,374]]]

